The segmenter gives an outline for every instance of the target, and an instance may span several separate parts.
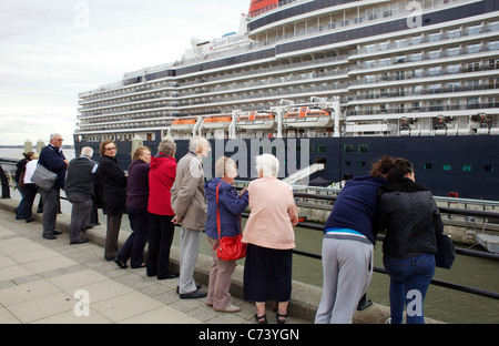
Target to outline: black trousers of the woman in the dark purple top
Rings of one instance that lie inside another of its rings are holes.
[[[130,258],[130,266],[138,268],[144,263],[144,247],[147,241],[149,213],[147,210],[128,207],[132,233],[121,247],[116,257],[123,263]]]

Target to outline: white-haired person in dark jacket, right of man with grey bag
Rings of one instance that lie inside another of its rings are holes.
[[[90,224],[92,211],[93,179],[98,164],[92,161],[93,149],[84,146],[80,157],[71,160],[68,166],[64,191],[68,201],[72,203],[70,224],[70,245],[89,242],[81,237],[80,232]]]

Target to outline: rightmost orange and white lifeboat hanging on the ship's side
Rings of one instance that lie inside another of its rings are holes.
[[[288,128],[327,128],[333,126],[333,119],[326,110],[301,106],[286,113],[283,124]]]

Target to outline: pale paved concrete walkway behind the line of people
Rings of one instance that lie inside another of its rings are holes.
[[[18,202],[0,200],[0,324],[254,323],[253,303],[234,296],[241,312],[216,313],[205,298],[180,299],[177,278],[157,281],[147,277],[145,268],[121,269],[105,261],[104,226],[88,231],[91,242],[69,245],[69,215],[60,214],[63,234],[54,241],[42,238],[41,214],[33,213],[31,223],[14,220]],[[128,234],[121,233],[122,242]],[[272,309],[267,316],[275,323]],[[307,322],[289,317],[293,323]]]

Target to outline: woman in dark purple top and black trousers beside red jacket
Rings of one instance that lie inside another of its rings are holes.
[[[129,165],[129,182],[126,186],[126,213],[129,214],[132,233],[114,258],[121,268],[126,268],[130,258],[132,268],[144,267],[144,246],[147,241],[147,200],[149,200],[149,164],[151,151],[140,146],[132,155]]]

